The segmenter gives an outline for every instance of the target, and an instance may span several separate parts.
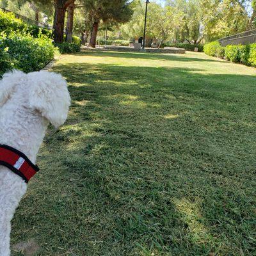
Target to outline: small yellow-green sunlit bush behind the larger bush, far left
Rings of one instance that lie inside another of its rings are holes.
[[[8,34],[12,31],[22,31],[28,26],[20,19],[16,19],[15,15],[10,12],[0,11],[0,32]]]

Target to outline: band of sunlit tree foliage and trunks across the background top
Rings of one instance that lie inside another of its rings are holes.
[[[113,35],[126,40],[143,36],[145,0],[0,0],[0,6],[53,22],[56,43],[63,42],[65,19],[68,38],[74,31],[83,40],[90,37],[92,47],[99,29],[111,28]],[[199,44],[255,26],[256,0],[166,0],[164,6],[152,0],[148,4],[147,37],[157,42]]]

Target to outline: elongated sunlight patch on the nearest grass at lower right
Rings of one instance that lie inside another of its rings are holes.
[[[189,231],[193,234],[193,239],[200,242],[202,242],[202,240],[207,241],[209,235],[207,234],[205,226],[200,223],[202,216],[197,205],[189,202],[186,198],[180,200],[173,199],[173,204],[180,212],[182,220],[188,224]]]

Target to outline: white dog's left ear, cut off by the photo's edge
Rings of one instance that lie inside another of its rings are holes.
[[[3,75],[3,79],[0,80],[0,108],[10,99],[22,79],[26,79],[26,74],[18,70]]]

